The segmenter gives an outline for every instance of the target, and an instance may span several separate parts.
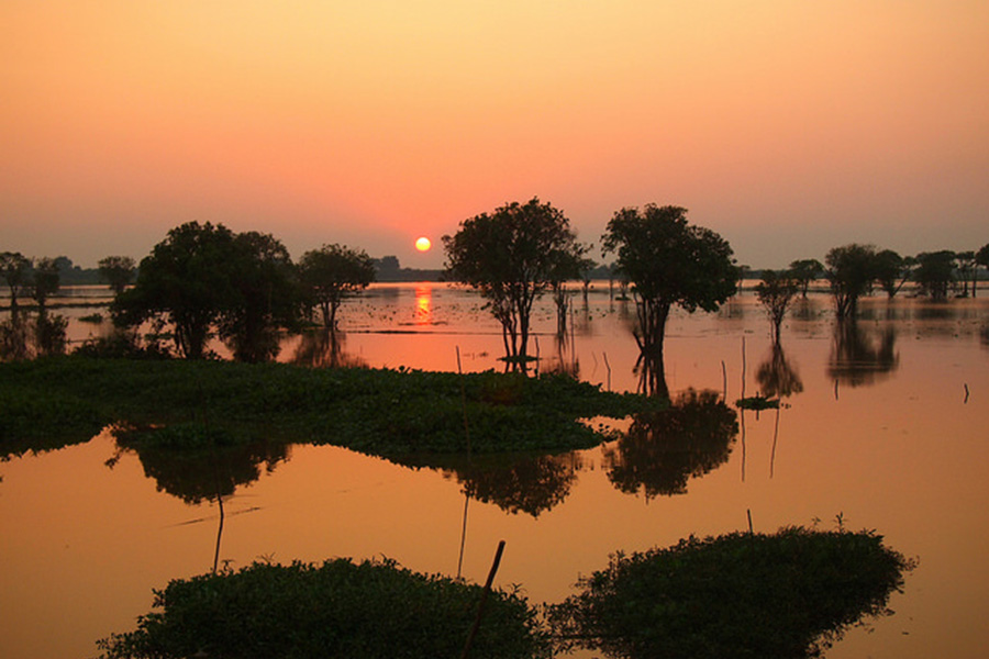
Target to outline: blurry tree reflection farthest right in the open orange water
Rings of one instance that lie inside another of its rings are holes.
[[[867,333],[854,319],[835,323],[827,364],[827,376],[837,384],[866,387],[888,378],[900,366],[896,350],[897,333],[886,325],[878,333]]]

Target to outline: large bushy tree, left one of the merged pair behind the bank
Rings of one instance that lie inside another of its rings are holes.
[[[222,224],[173,228],[141,261],[134,287],[114,300],[115,317],[126,325],[162,317],[174,327],[178,353],[202,358],[213,324],[235,295],[227,267],[233,256],[234,234]]]

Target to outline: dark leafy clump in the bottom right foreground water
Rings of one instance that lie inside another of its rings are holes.
[[[551,607],[566,646],[612,657],[818,657],[887,602],[914,563],[881,536],[782,528],[612,557]]]

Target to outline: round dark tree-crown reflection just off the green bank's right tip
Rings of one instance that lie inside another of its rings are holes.
[[[669,409],[637,415],[627,434],[604,449],[604,469],[622,492],[685,494],[690,478],[727,461],[737,434],[736,413],[718,392],[689,389]]]

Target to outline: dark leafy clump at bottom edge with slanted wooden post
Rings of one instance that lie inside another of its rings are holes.
[[[392,561],[264,562],[170,582],[137,629],[98,645],[109,659],[459,657],[481,587]],[[492,591],[471,659],[548,657],[536,611]]]

